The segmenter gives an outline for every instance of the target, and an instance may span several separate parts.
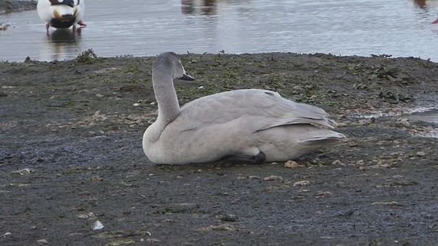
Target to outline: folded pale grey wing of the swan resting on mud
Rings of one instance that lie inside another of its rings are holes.
[[[287,124],[313,124],[333,128],[328,113],[312,105],[293,102],[270,90],[234,90],[205,96],[181,108],[174,123],[182,131],[235,120],[252,132]]]

